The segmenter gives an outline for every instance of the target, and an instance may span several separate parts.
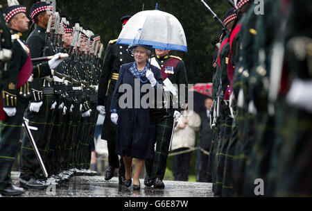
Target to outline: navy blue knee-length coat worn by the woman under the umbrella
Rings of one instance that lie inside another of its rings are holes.
[[[145,96],[149,90],[147,90],[147,92],[140,92],[139,97],[137,96],[137,103],[135,103],[135,96],[137,94],[135,94],[135,79],[139,80],[139,78],[137,78],[137,76],[135,76],[130,70],[134,64],[135,62],[132,62],[121,66],[119,78],[112,96],[111,112],[117,112],[118,114],[116,153],[121,156],[128,155],[132,158],[151,159],[154,155],[154,146],[153,140],[150,137],[151,134],[153,134],[153,131],[150,131],[150,109],[142,108],[140,103],[142,97]],[[150,69],[153,72],[156,81],[159,84],[162,84],[162,74],[160,69],[153,65],[150,65]],[[128,96],[130,97],[124,100],[125,102],[131,102],[132,100],[132,108],[119,107],[120,97],[125,96],[123,94],[128,92],[119,92],[119,87],[125,84],[132,87],[132,96],[128,93]],[[147,78],[142,78],[137,84],[140,89],[144,84],[150,86]],[[152,87],[152,89],[155,90],[154,87]],[[139,108],[135,107],[135,104],[139,104]]]

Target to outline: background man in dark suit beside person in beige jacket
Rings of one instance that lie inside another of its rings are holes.
[[[210,111],[212,108],[213,101],[211,98],[205,100],[206,110],[200,113],[200,119],[202,125],[200,127],[200,141],[198,142],[198,157],[196,161],[196,180],[198,182],[207,183],[207,167],[209,149],[212,139],[212,129],[210,127]]]

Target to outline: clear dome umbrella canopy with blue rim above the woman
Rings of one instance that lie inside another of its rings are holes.
[[[133,15],[123,27],[117,43],[187,52],[182,25],[176,17],[160,10],[145,10]]]

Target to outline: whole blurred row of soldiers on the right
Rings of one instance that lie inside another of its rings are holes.
[[[311,196],[312,3],[235,6],[214,54],[209,182],[215,196]]]

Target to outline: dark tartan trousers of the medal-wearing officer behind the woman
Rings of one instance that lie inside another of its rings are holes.
[[[156,144],[156,151],[153,160],[145,161],[146,173],[150,174],[151,178],[164,179],[171,134],[173,131],[173,121],[173,117],[151,119],[151,131],[155,131],[153,143]]]

